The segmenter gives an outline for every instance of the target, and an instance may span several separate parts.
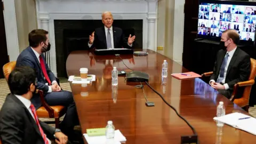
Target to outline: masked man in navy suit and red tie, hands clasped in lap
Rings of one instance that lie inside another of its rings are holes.
[[[76,106],[72,93],[61,90],[54,74],[45,62],[43,52],[49,51],[51,48],[48,31],[43,29],[32,30],[28,35],[28,39],[29,46],[20,53],[16,67],[29,66],[36,69],[37,89],[44,91],[45,101],[50,106],[60,105],[67,107],[67,113],[60,123],[60,129],[72,139],[74,126],[79,124]],[[39,95],[34,95],[31,98],[31,102],[36,109],[42,105]]]

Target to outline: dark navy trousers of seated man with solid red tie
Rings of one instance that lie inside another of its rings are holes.
[[[72,134],[74,126],[79,124],[73,94],[68,91],[46,93],[45,101],[50,106],[60,105],[67,107],[67,113],[60,123],[60,129],[68,136]]]

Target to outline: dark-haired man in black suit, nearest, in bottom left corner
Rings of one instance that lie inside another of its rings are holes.
[[[38,121],[30,99],[36,91],[36,73],[30,67],[15,68],[8,78],[8,94],[0,111],[0,137],[2,143],[47,144],[56,138],[67,143],[68,137],[59,129]],[[57,140],[58,139],[58,140]]]

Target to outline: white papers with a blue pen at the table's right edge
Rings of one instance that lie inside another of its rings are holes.
[[[232,113],[213,119],[256,135],[256,118],[254,117],[242,113]]]

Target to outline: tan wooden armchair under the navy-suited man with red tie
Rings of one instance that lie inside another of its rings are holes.
[[[16,61],[11,61],[6,63],[3,66],[3,72],[4,72],[4,77],[6,79],[6,82],[8,82],[8,77],[12,72],[12,70],[15,68],[15,65],[16,65]],[[36,90],[36,92],[39,94],[42,102],[42,107],[36,110],[37,116],[39,118],[55,118],[55,127],[59,128],[60,117],[66,113],[67,108],[64,106],[49,106],[44,100],[43,91]],[[51,122],[46,122],[46,123],[51,123]]]

